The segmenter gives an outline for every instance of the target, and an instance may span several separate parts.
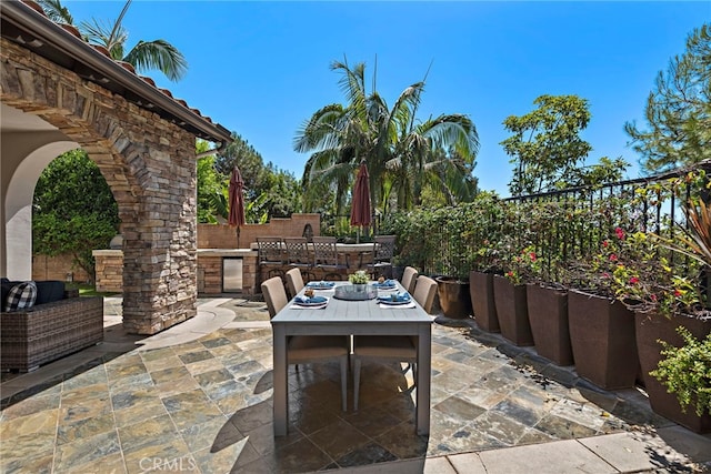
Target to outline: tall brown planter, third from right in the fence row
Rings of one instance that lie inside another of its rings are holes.
[[[529,283],[525,292],[535,351],[558,365],[572,365],[568,292],[540,283]]]

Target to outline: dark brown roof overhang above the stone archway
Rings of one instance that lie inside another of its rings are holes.
[[[158,89],[150,78],[137,75],[130,65],[112,60],[32,7],[18,0],[3,0],[0,20],[2,38],[159,114],[196,137],[222,145],[232,141],[224,127],[189,108],[183,100],[172,98],[170,91]]]

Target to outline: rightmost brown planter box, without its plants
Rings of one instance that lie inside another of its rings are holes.
[[[704,413],[702,416],[695,414],[693,406],[687,407],[687,413],[681,411],[677,395],[669,393],[655,377],[649,373],[657,369],[657,364],[662,359],[662,346],[659,340],[681,347],[682,337],[677,333],[677,327],[684,326],[691,334],[702,340],[711,332],[711,320],[701,320],[683,314],[665,317],[654,313],[634,313],[637,323],[637,347],[639,351],[644,389],[649,396],[652,410],[682,426],[697,433],[711,432],[711,415]]]

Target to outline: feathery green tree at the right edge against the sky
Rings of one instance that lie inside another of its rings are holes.
[[[641,165],[650,173],[711,159],[711,30],[694,29],[687,50],[660,71],[647,99],[644,118],[649,128],[640,130],[627,122],[624,131]]]

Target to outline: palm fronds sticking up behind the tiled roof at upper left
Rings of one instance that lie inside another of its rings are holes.
[[[131,63],[137,71],[158,69],[171,81],[180,80],[188,70],[188,61],[176,47],[166,40],[140,40],[128,53],[124,53],[128,31],[121,22],[132,0],[127,0],[119,17],[113,23],[101,23],[96,19],[79,23],[82,37],[92,44],[100,44],[109,50],[117,61]],[[39,0],[50,20],[73,24],[73,19],[61,0]]]

